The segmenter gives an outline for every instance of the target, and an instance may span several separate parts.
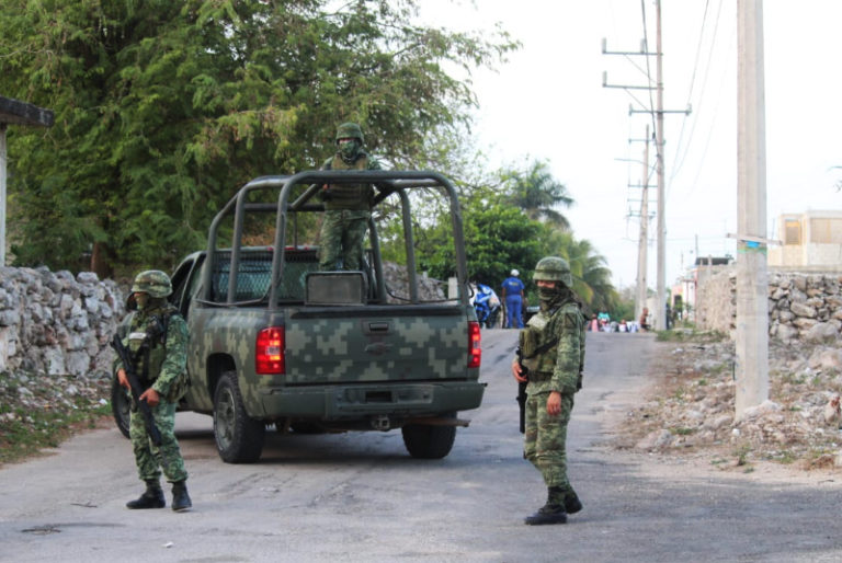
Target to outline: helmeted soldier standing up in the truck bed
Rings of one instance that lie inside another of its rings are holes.
[[[363,131],[355,123],[337,128],[337,153],[322,170],[380,170],[363,150]],[[319,268],[331,271],[342,258],[343,269],[362,269],[365,233],[372,216],[374,187],[371,184],[332,184],[322,187],[325,219],[321,223]]]

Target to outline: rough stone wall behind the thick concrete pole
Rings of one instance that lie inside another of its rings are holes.
[[[769,273],[769,333],[783,342],[833,342],[842,330],[842,276],[820,273]],[[696,324],[733,338],[737,274],[728,268],[699,282]]]

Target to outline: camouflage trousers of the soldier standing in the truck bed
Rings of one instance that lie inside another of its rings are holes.
[[[335,269],[339,258],[342,258],[342,269],[363,268],[363,245],[371,215],[371,211],[354,209],[325,211],[319,269]]]

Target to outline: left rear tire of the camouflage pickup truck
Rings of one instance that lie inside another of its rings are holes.
[[[226,463],[253,463],[263,451],[266,426],[246,413],[237,372],[226,371],[214,392],[214,438]]]

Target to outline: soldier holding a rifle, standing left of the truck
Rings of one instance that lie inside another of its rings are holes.
[[[132,405],[129,436],[135,452],[137,472],[146,482],[146,491],[128,508],[163,508],[166,501],[159,482],[161,469],[172,483],[172,509],[192,506],[187,494],[187,472],[175,439],[175,405],[186,390],[187,325],[167,301],[172,294],[170,278],[163,272],[141,272],[135,278],[132,292],[137,311],[124,321],[123,344],[135,360],[135,374],[146,390],[140,395],[151,407],[155,425],[161,433],[161,445],[152,444],[136,404]],[[123,364],[117,360],[120,384],[128,388]]]

